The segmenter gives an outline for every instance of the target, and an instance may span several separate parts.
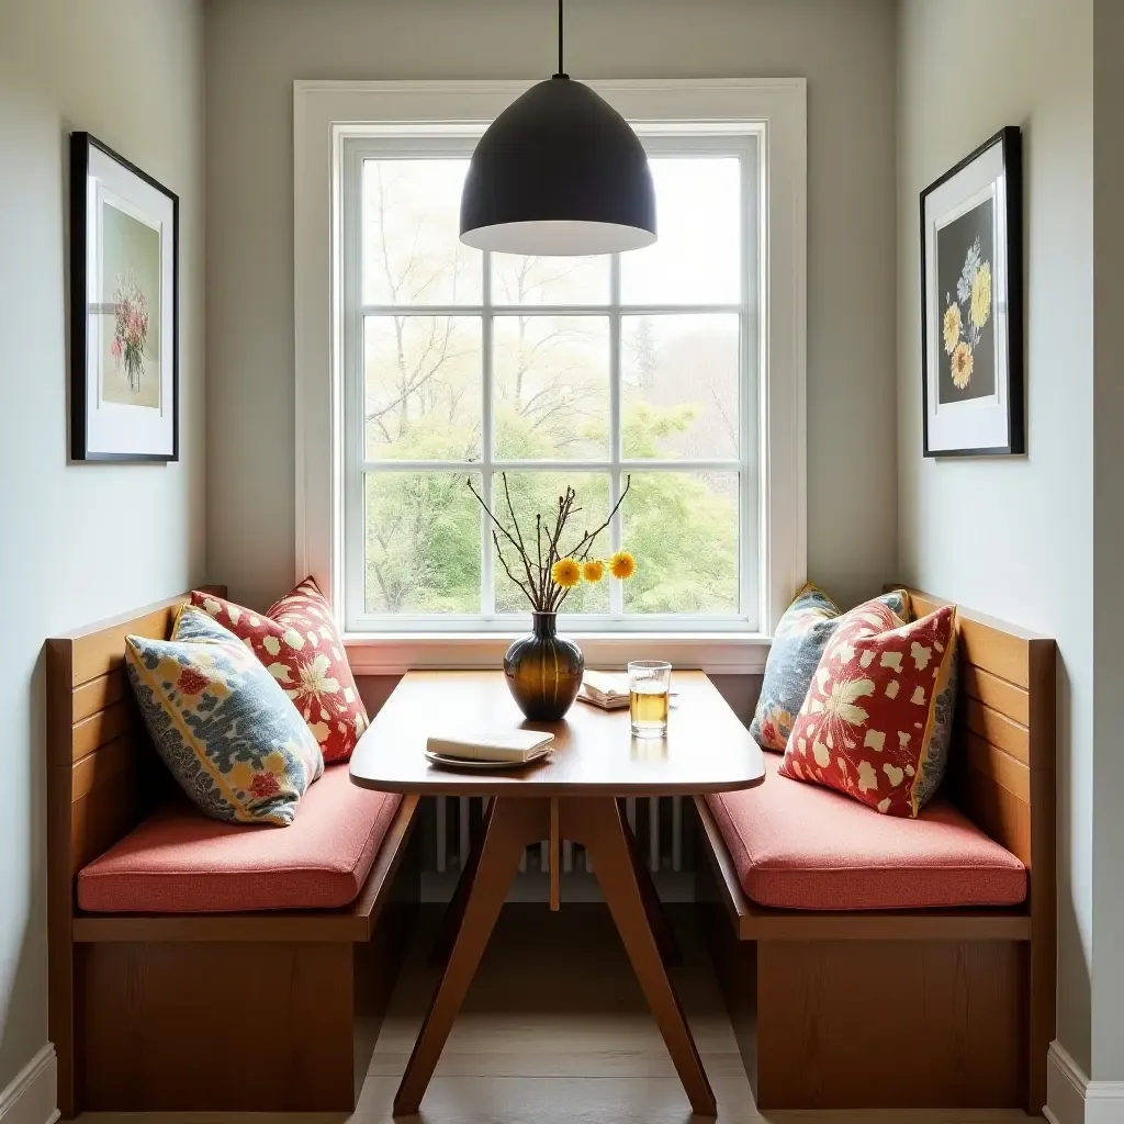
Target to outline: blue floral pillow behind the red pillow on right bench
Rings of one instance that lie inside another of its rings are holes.
[[[909,618],[909,595],[904,589],[876,599],[903,620]],[[810,581],[785,610],[765,661],[758,707],[750,734],[763,750],[783,753],[812,673],[841,620],[839,606]]]

